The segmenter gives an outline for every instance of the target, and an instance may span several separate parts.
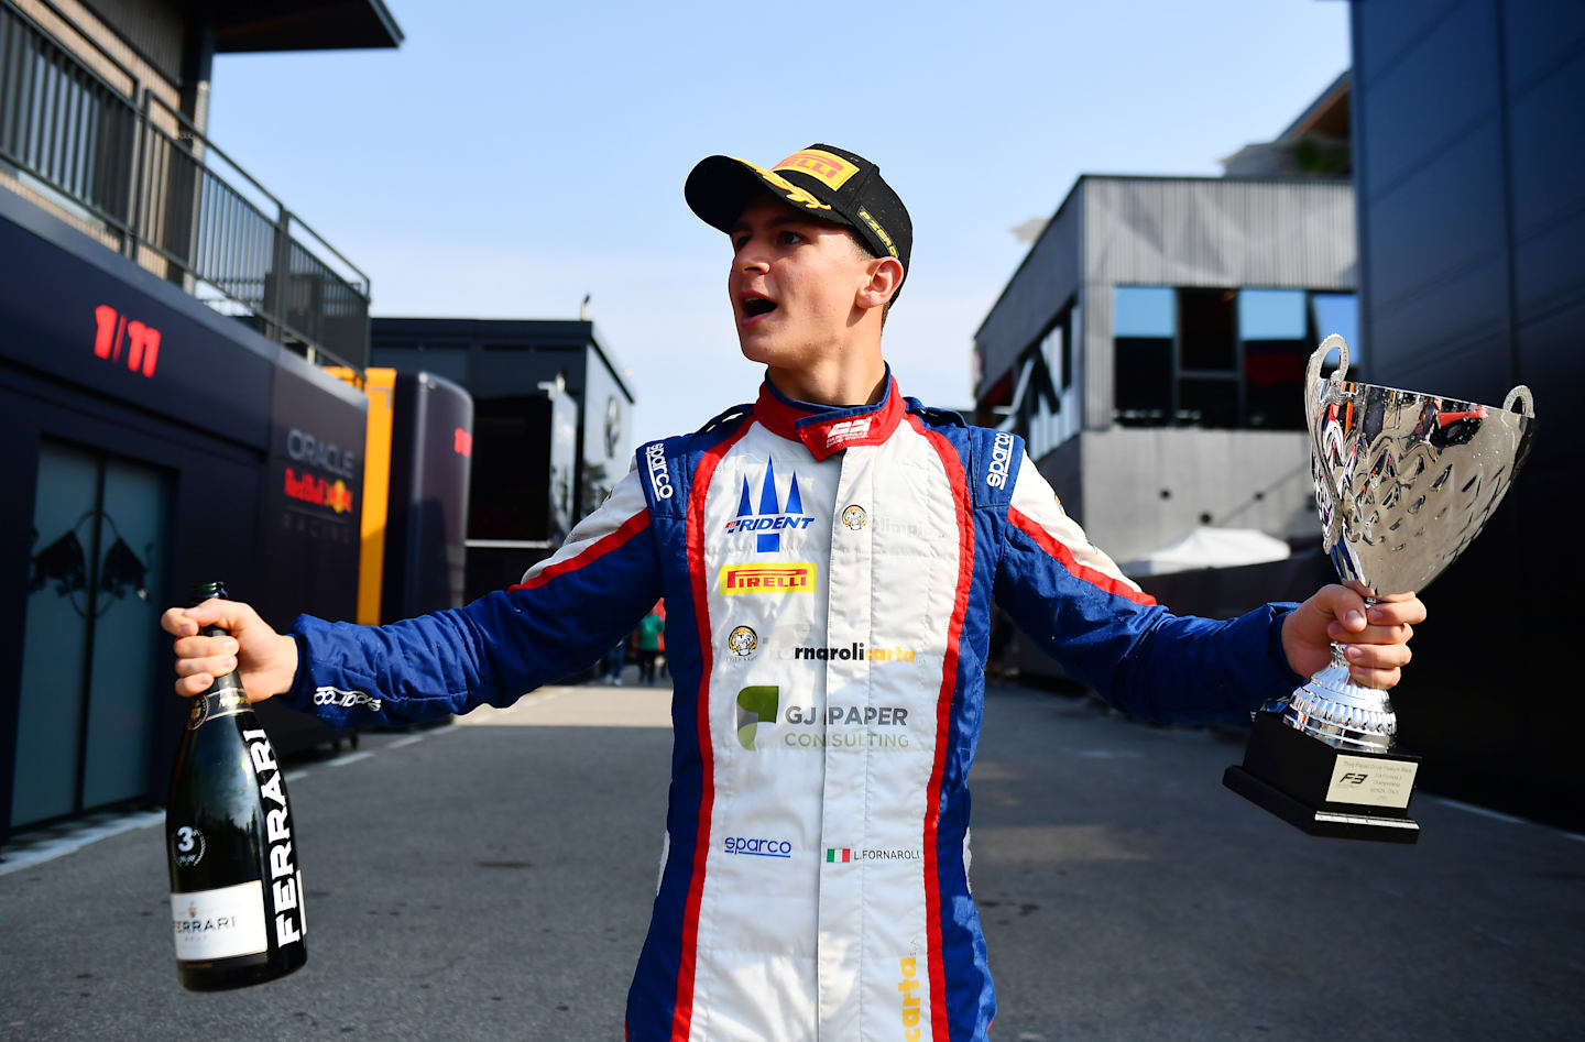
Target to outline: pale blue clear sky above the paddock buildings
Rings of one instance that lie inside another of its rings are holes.
[[[634,445],[762,375],[728,239],[683,203],[705,155],[877,163],[915,228],[886,356],[964,409],[1016,225],[1084,173],[1217,176],[1349,67],[1341,0],[387,6],[398,49],[217,55],[209,138],[369,276],[374,315],[577,318],[588,295]]]

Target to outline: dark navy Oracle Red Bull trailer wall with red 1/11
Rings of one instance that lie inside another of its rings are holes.
[[[0,838],[158,803],[184,717],[160,611],[225,580],[352,618],[366,399],[0,192]],[[287,711],[282,744],[323,728]]]

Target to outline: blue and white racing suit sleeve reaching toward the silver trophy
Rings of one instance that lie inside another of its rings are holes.
[[[1270,603],[1236,619],[1176,616],[1141,592],[1027,466],[1018,472],[995,599],[1046,654],[1119,709],[1155,721],[1243,719],[1303,678]]]

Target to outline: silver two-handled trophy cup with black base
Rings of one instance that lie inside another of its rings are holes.
[[[1320,375],[1338,352],[1338,369]],[[1419,592],[1469,546],[1530,448],[1530,388],[1503,409],[1347,380],[1349,345],[1322,340],[1304,372],[1322,548],[1366,605]],[[1409,795],[1419,759],[1393,749],[1385,690],[1349,678],[1339,645],[1278,713],[1255,714],[1228,789],[1319,836],[1414,842]]]

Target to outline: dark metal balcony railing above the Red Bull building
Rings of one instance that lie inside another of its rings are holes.
[[[101,225],[127,257],[163,261],[171,282],[216,310],[309,358],[361,367],[368,276],[105,57],[130,90],[0,0],[0,160]]]

